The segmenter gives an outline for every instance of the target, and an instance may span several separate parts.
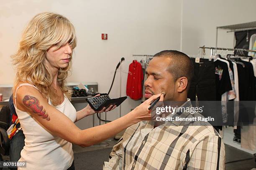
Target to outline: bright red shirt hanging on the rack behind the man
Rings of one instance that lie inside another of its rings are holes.
[[[141,82],[143,80],[143,71],[141,63],[137,60],[129,65],[129,72],[127,77],[126,95],[130,96],[131,99],[139,100],[142,97]]]

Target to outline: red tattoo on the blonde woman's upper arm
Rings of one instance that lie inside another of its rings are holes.
[[[39,100],[36,97],[26,95],[23,98],[23,103],[26,107],[29,107],[33,113],[42,116],[46,120],[50,120],[49,115],[46,113],[43,106],[39,105]]]

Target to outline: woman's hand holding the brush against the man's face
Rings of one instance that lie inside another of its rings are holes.
[[[151,102],[157,99],[157,97],[160,97],[159,101],[164,101],[164,95],[159,93],[158,95],[151,96],[148,100],[141,103],[138,107],[136,107],[131,113],[134,114],[136,121],[140,122],[143,120],[151,120],[151,110],[148,110],[148,107],[150,107]]]

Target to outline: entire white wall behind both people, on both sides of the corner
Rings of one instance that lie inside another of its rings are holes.
[[[108,92],[121,57],[125,57],[122,69],[127,71],[133,54],[155,54],[165,49],[197,54],[199,46],[215,46],[217,26],[254,21],[255,6],[255,0],[2,1],[0,84],[13,83],[15,71],[10,55],[17,50],[22,30],[37,13],[60,13],[69,18],[77,30],[78,45],[68,82],[98,82],[99,91]],[[108,40],[101,40],[101,33],[108,33]],[[233,33],[220,30],[218,47],[233,47]],[[121,74],[124,96],[127,73]],[[110,97],[120,95],[119,77],[120,72]],[[126,100],[122,104],[122,115],[139,103]],[[115,109],[108,113],[108,119],[114,120],[118,115],[119,109]],[[79,124],[88,128],[91,121],[92,117],[88,117]]]

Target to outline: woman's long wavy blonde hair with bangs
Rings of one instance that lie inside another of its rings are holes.
[[[11,56],[17,69],[15,85],[20,81],[31,82],[46,99],[50,98],[51,103],[57,105],[58,96],[56,90],[51,87],[53,77],[45,65],[46,53],[52,45],[57,45],[59,49],[67,42],[72,42],[70,45],[73,51],[77,38],[74,26],[67,18],[55,13],[36,15],[23,32],[18,51]],[[69,100],[72,90],[66,86],[66,78],[70,65],[71,60],[67,67],[59,69],[57,77],[59,87]]]

